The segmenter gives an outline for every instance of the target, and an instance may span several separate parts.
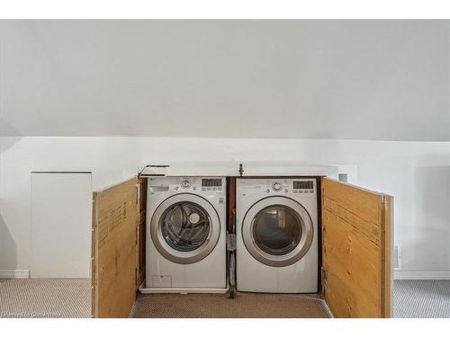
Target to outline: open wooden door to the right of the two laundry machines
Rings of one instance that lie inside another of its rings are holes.
[[[392,197],[322,178],[323,292],[335,317],[392,315]]]

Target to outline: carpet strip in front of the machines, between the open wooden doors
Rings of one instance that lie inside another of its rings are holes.
[[[328,318],[325,301],[315,295],[238,293],[139,295],[133,317]]]

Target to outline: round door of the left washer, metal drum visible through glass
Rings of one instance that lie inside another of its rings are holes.
[[[208,200],[196,194],[176,194],[155,210],[150,235],[157,251],[167,260],[199,262],[219,241],[219,215]]]

